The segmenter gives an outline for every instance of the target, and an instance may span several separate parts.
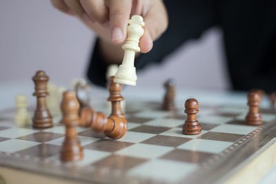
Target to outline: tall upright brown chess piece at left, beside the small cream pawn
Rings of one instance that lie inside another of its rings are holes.
[[[52,127],[52,116],[47,108],[46,96],[47,92],[47,82],[49,77],[44,71],[37,71],[35,76],[32,77],[34,81],[34,96],[37,96],[37,109],[34,111],[34,116],[32,118],[33,127]]]

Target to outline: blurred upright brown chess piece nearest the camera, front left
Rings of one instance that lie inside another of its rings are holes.
[[[66,137],[61,147],[61,161],[79,161],[83,158],[82,147],[77,138],[79,125],[79,102],[73,91],[63,93],[61,123],[66,126]]]

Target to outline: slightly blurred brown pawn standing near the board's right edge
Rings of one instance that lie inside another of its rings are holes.
[[[262,116],[259,114],[259,99],[257,92],[249,92],[247,95],[249,111],[246,115],[246,123],[249,125],[262,125]]]

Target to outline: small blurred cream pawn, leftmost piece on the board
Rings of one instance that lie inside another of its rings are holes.
[[[27,96],[17,95],[16,98],[17,114],[14,117],[14,123],[20,126],[28,125],[30,123],[30,114],[28,113],[27,106]]]

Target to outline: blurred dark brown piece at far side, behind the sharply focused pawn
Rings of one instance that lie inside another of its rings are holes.
[[[164,96],[162,109],[173,111],[175,110],[175,81],[168,79],[168,81],[164,83],[164,87],[166,89],[166,94]]]

